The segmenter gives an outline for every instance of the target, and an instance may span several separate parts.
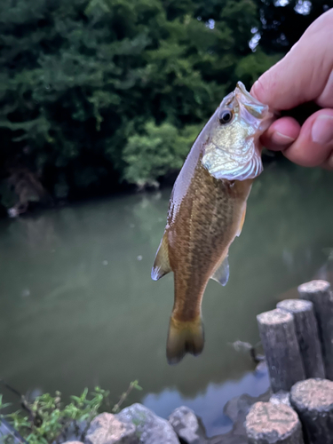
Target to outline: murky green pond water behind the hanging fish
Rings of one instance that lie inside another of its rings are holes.
[[[115,401],[139,379],[144,392],[131,401],[162,416],[186,404],[210,434],[225,432],[226,400],[268,384],[230,344],[257,343],[258,313],[329,273],[332,185],[326,171],[266,168],[230,251],[230,281],[207,287],[204,352],[174,367],[165,359],[172,276],[150,280],[170,190],[1,221],[0,375],[21,392],[99,384]]]

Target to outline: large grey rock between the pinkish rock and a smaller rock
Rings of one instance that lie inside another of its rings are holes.
[[[134,424],[142,444],[179,444],[176,432],[170,423],[142,404],[133,404],[115,415],[119,421]]]

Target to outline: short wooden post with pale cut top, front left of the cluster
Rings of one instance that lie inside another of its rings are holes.
[[[298,416],[285,404],[256,402],[245,427],[249,444],[304,444]]]

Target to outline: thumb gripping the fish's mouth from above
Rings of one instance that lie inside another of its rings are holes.
[[[333,10],[329,10],[306,29],[283,59],[259,77],[251,93],[275,110],[311,100],[321,107],[333,106],[329,93],[333,88],[332,41]]]

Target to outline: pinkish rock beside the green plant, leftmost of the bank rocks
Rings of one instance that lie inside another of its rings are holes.
[[[84,444],[138,444],[135,425],[122,422],[111,413],[102,413],[92,421]]]

